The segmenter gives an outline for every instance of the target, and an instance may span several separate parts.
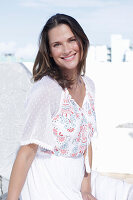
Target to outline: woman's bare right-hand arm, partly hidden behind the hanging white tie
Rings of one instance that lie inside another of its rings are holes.
[[[86,153],[84,157],[86,156]],[[92,168],[92,145],[88,146],[88,160],[90,169]],[[83,200],[96,200],[95,197],[91,195],[91,173],[85,171],[85,175],[81,184],[81,194]]]

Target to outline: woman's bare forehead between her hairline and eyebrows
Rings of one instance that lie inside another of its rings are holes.
[[[66,24],[60,24],[48,32],[49,42],[53,43],[56,41],[64,41],[70,37],[73,37],[74,34],[70,27]]]

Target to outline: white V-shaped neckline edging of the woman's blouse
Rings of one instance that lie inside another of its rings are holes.
[[[81,109],[83,110],[83,107],[84,107],[84,104],[85,104],[85,101],[86,101],[86,96],[87,96],[87,91],[88,91],[88,88],[87,88],[87,84],[86,84],[86,81],[84,79],[84,77],[82,77],[82,80],[83,80],[83,83],[84,83],[84,86],[85,86],[85,96],[84,96],[84,99],[83,99],[83,102],[82,102],[82,106],[80,106],[76,100],[72,97],[72,95],[70,94],[69,90],[67,88],[65,88],[65,90],[67,91],[70,99]]]

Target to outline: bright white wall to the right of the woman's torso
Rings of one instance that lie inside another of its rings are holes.
[[[133,173],[133,66],[130,63],[87,63],[87,75],[95,82],[99,137],[94,169]]]

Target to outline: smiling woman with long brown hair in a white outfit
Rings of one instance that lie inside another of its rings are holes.
[[[45,24],[7,200],[96,200],[84,159],[91,166],[96,127],[94,84],[83,76],[88,46],[74,18],[56,14]]]

